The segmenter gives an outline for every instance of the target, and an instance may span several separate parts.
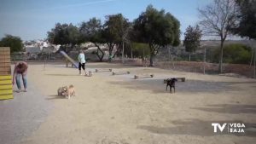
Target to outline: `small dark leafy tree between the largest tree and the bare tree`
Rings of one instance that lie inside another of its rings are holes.
[[[190,61],[190,54],[195,52],[196,49],[200,47],[200,40],[201,40],[201,30],[198,25],[195,27],[189,26],[184,33],[184,41],[183,45],[186,48],[186,51],[189,52],[189,61]]]

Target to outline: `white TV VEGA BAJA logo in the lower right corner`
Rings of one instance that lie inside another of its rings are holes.
[[[217,133],[218,130],[223,132],[226,130],[228,133],[244,133],[245,124],[242,123],[212,123],[213,132]]]

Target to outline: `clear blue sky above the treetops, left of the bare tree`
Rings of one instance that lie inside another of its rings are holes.
[[[181,32],[199,21],[198,8],[213,0],[0,0],[0,38],[6,34],[22,40],[44,39],[60,22],[79,26],[96,17],[104,22],[108,14],[136,19],[149,4],[165,9],[181,23]]]

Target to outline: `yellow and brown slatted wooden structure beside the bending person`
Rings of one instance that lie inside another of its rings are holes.
[[[9,47],[0,47],[0,100],[13,99]]]

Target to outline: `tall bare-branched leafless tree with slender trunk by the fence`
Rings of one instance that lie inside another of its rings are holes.
[[[234,0],[214,0],[198,11],[201,15],[202,31],[207,35],[220,37],[218,71],[222,72],[224,41],[231,34],[231,29],[237,26],[236,3]]]

